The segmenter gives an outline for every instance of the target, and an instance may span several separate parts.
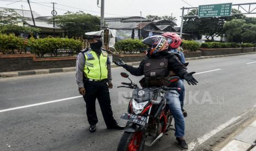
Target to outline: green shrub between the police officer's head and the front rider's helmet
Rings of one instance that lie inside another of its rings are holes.
[[[136,54],[146,50],[146,45],[139,39],[124,39],[116,42],[115,49],[119,54]]]

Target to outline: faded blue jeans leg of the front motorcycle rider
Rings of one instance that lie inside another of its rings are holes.
[[[175,120],[175,135],[176,137],[183,137],[185,135],[185,120],[181,111],[181,103],[179,102],[179,94],[177,91],[166,92],[166,103]]]

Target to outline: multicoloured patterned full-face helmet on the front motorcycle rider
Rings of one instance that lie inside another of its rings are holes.
[[[144,40],[142,40],[142,42],[151,47],[151,50],[149,50],[150,56],[161,51],[166,51],[169,45],[167,39],[164,36],[160,35],[145,38]]]

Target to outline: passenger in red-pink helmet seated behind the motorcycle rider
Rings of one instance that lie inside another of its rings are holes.
[[[166,32],[166,33],[162,34],[162,36],[167,38],[167,41],[169,43],[168,51],[170,53],[176,53],[179,56],[181,56],[181,62],[183,64],[185,64],[186,62],[185,62],[184,54],[182,53],[182,51],[178,50],[178,49],[181,49],[181,48],[179,48],[181,46],[181,43],[182,43],[181,37],[177,33],[173,33],[173,32]],[[176,74],[175,74],[175,72],[171,71],[171,75],[175,76]],[[176,86],[178,88],[181,88],[181,90],[178,91],[179,101],[181,102],[181,109],[182,109],[183,115],[184,115],[184,117],[187,117],[188,113],[183,109],[183,107],[184,107],[184,98],[185,98],[185,86],[183,84],[183,80],[180,79],[176,83]]]

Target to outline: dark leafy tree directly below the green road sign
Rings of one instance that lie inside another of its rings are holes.
[[[196,9],[191,10],[188,16],[194,15],[196,11]],[[235,13],[238,10],[232,9],[232,11]],[[211,18],[185,17],[184,32],[198,33],[200,36],[204,35],[206,39],[214,41],[215,36],[223,36],[225,33],[223,30],[225,21],[243,18],[244,15],[241,14]]]

